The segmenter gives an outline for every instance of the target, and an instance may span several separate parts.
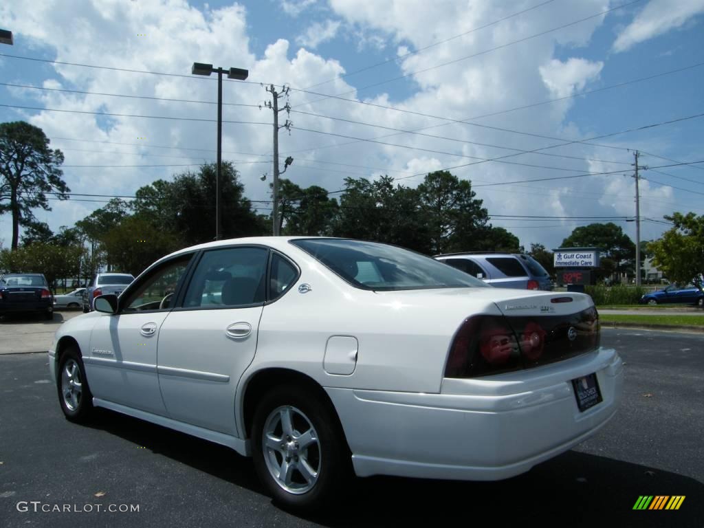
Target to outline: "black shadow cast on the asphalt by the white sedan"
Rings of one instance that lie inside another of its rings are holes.
[[[100,409],[91,427],[153,453],[265,494],[249,458],[149,422]],[[460,441],[460,440],[458,440]],[[471,446],[467,446],[471,449]],[[684,495],[677,511],[633,510],[641,495]],[[457,526],[547,522],[572,527],[702,527],[704,484],[653,467],[568,451],[519,477],[453,482],[396,477],[356,479],[325,515],[301,516],[327,527]]]

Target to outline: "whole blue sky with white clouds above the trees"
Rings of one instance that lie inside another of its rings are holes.
[[[634,215],[628,149],[648,153],[641,164],[656,168],[641,171],[646,178],[641,182],[644,218],[661,220],[674,210],[704,214],[704,164],[657,168],[704,160],[704,118],[591,144],[579,141],[704,112],[704,64],[699,65],[704,63],[703,15],[704,0],[65,0],[44,1],[31,10],[24,1],[11,0],[0,6],[0,20],[13,30],[15,45],[1,46],[0,54],[24,58],[0,56],[1,82],[44,90],[0,85],[0,104],[69,112],[0,107],[0,120],[27,120],[42,127],[52,146],[65,153],[64,179],[73,192],[131,196],[140,186],[188,167],[114,165],[210,161],[215,157],[215,123],[94,113],[214,119],[213,105],[163,100],[214,101],[212,81],[188,76],[192,62],[212,61],[250,70],[248,83],[225,84],[226,103],[267,101],[259,82],[294,88],[289,96],[294,128],[290,136],[282,134],[280,150],[294,156],[287,177],[298,184],[334,190],[346,176],[388,173],[414,186],[422,180],[416,174],[515,154],[505,160],[512,163],[490,161],[451,171],[472,180],[494,225],[507,227],[527,246],[541,242],[555,247],[577,225],[596,221],[562,217],[614,217],[634,237],[634,224],[624,221]],[[369,68],[384,61],[389,62]],[[438,66],[447,62],[452,63]],[[341,77],[362,68],[367,69]],[[686,69],[668,73],[681,68]],[[634,82],[660,74],[666,75]],[[386,82],[402,75],[406,77]],[[629,84],[603,89],[620,83]],[[308,87],[352,101],[319,100],[301,92]],[[603,90],[574,96],[595,89]],[[561,97],[568,99],[512,110]],[[485,114],[493,115],[481,117]],[[268,182],[259,178],[271,172],[271,127],[266,124],[271,118],[270,111],[256,107],[224,110],[225,120],[257,123],[226,123],[223,150],[224,158],[235,160],[241,171],[246,194],[262,201],[257,205],[262,212],[268,207]],[[469,118],[471,125],[457,122]],[[394,133],[380,127],[418,130],[435,125],[442,126],[422,133],[443,139],[413,134],[375,140],[388,144],[348,139]],[[137,139],[141,137],[146,139]],[[560,142],[555,139],[574,143],[520,153]],[[617,171],[622,172],[566,177]],[[525,181],[545,178],[554,179]],[[75,199],[51,204],[52,211],[38,210],[36,215],[54,230],[103,205]],[[527,218],[536,215],[548,218]],[[666,228],[644,220],[642,237],[658,237]],[[4,246],[10,234],[10,218],[4,215]]]

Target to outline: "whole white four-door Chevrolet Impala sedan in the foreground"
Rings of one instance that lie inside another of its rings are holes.
[[[486,287],[372,242],[194,246],[95,308],[49,351],[65,416],[230,446],[288,508],[344,496],[351,474],[512,477],[594,434],[622,390],[589,296]]]

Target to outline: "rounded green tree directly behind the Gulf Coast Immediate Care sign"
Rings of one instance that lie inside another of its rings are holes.
[[[635,268],[636,244],[613,222],[576,227],[560,247],[597,247],[601,249],[602,258],[615,263],[616,272]]]

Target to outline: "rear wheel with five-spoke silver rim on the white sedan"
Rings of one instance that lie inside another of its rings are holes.
[[[300,385],[277,387],[261,399],[252,422],[252,453],[259,479],[288,510],[334,505],[352,474],[334,409]]]

